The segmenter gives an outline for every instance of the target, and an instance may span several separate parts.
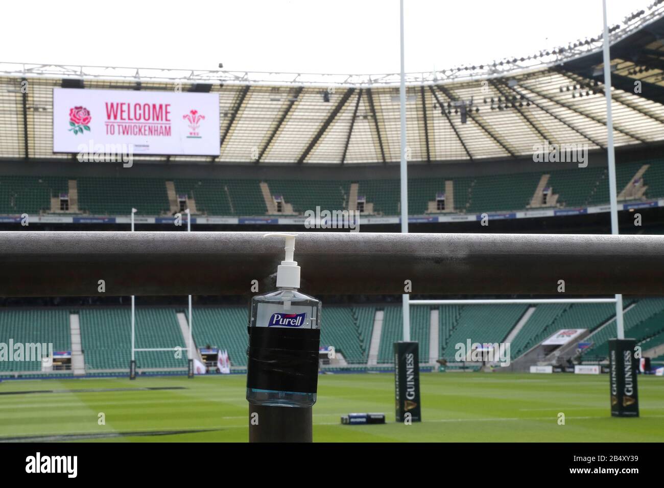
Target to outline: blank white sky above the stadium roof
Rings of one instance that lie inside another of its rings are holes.
[[[608,0],[611,22],[648,0]],[[602,0],[405,0],[406,71],[602,31]],[[4,2],[0,61],[313,73],[399,70],[398,0]]]

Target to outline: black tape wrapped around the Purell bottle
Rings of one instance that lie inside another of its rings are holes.
[[[315,393],[320,329],[248,327],[247,387]]]

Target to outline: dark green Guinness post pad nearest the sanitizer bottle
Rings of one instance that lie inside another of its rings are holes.
[[[410,418],[410,422],[422,421],[418,347],[416,342],[394,343],[396,422],[404,422],[406,418]]]

